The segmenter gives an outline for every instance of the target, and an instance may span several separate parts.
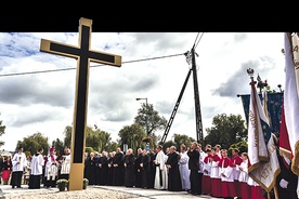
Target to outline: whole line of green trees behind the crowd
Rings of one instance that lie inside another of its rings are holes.
[[[158,131],[165,130],[167,120],[159,116],[159,112],[154,109],[152,104],[143,103],[134,117],[134,121],[130,125],[125,125],[118,132],[118,138],[112,140],[110,133],[99,129],[96,125],[88,125],[86,129],[86,151],[114,151],[117,147],[136,149],[145,148],[146,143],[154,148],[160,144],[161,136],[157,135]],[[22,145],[26,155],[34,155],[39,147],[44,151],[49,151],[50,147],[55,147],[57,155],[64,152],[65,147],[70,147],[73,127],[65,127],[63,134],[64,138],[49,141],[41,132],[36,132],[32,135],[24,137],[23,141],[17,141],[17,147]],[[0,136],[5,132],[5,125],[0,120]],[[237,147],[240,151],[247,151],[247,125],[240,115],[220,114],[213,117],[212,127],[206,128],[207,135],[204,137],[204,144],[214,146],[220,144],[222,148]],[[195,140],[186,133],[176,132],[170,141],[164,143],[164,149],[170,146],[176,146],[178,149],[181,144],[190,146]],[[0,141],[0,147],[4,142]]]

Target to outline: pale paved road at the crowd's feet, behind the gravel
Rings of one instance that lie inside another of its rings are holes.
[[[12,188],[10,185],[0,185],[0,199],[5,198],[6,194],[21,194],[26,195],[32,191],[36,193],[44,193],[51,194],[58,191],[57,188],[40,188],[40,189],[28,189],[27,185],[22,185],[23,188]],[[198,199],[216,199],[214,197],[202,195],[202,196],[193,196],[186,194],[185,191],[169,191],[169,190],[156,190],[156,189],[144,189],[144,188],[128,188],[122,186],[93,186],[89,185],[88,188],[104,188],[108,190],[115,191],[123,191],[139,195],[138,198],[134,199],[190,199],[190,198],[198,198]]]

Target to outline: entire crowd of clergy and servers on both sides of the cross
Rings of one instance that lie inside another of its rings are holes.
[[[56,187],[60,178],[68,180],[70,169],[70,149],[56,156],[55,149],[43,155],[39,148],[30,158],[26,157],[23,147],[11,158],[1,163],[2,181],[12,188],[22,188],[22,177],[28,176],[29,188]],[[221,149],[220,145],[202,145],[193,142],[190,146],[182,144],[177,150],[170,146],[164,150],[161,145],[156,148],[132,148],[122,151],[91,151],[84,154],[83,177],[89,185],[140,187],[144,189],[161,189],[186,191],[194,196],[208,195],[216,198],[264,199],[266,194],[248,175],[250,160],[247,152],[237,148]],[[297,198],[298,176],[287,173],[290,161],[280,157],[282,172],[277,177],[277,186],[282,196]],[[27,171],[27,174],[25,174]],[[10,183],[9,183],[10,182]],[[295,190],[295,191],[292,191]],[[294,195],[295,193],[295,195]]]

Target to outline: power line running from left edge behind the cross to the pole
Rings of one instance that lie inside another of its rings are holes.
[[[135,59],[135,61],[128,61],[128,62],[122,62],[121,64],[129,64],[129,63],[135,63],[135,62],[144,62],[144,61],[153,61],[153,59],[158,59],[158,58],[169,58],[173,56],[180,56],[184,55],[184,53],[181,54],[173,54],[173,55],[167,55],[167,56],[158,56],[158,57],[152,57],[152,58],[143,58],[143,59]],[[105,66],[105,64],[99,64],[90,67],[100,67],[100,66]],[[39,71],[27,71],[27,72],[15,72],[15,74],[2,74],[0,77],[9,77],[9,76],[22,76],[22,75],[30,75],[30,74],[43,74],[43,72],[53,72],[53,71],[63,71],[63,70],[73,70],[76,68],[61,68],[61,69],[52,69],[52,70],[39,70]]]

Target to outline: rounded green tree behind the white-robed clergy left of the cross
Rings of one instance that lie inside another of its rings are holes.
[[[17,141],[17,146],[15,147],[15,151],[17,148],[22,146],[24,151],[29,151],[30,155],[36,154],[39,148],[43,149],[43,154],[48,155],[49,144],[48,137],[43,136],[40,132],[37,132],[32,135],[25,137],[23,141]]]

